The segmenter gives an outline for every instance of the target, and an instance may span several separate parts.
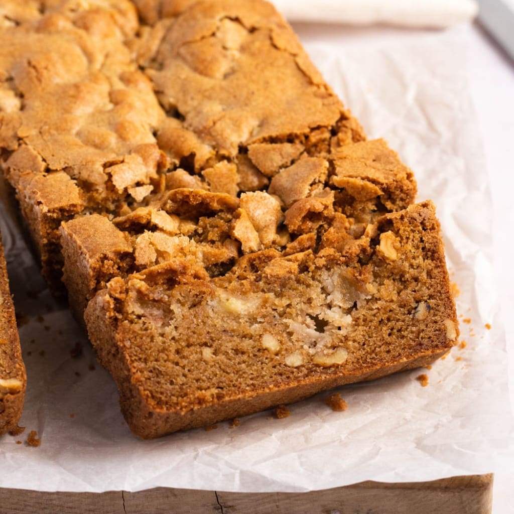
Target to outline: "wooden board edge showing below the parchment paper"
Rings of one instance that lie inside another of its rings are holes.
[[[1,514],[490,514],[493,475],[434,482],[362,482],[306,493],[156,488],[63,493],[0,489]]]

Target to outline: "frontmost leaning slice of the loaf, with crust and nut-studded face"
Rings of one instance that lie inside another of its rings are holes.
[[[177,253],[109,281],[85,320],[130,428],[209,425],[447,353],[457,321],[433,205],[384,215],[356,245],[262,250],[214,278]]]

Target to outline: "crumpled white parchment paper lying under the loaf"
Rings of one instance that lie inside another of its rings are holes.
[[[465,348],[430,370],[340,388],[348,403],[342,413],[324,405],[325,393],[290,406],[285,419],[265,412],[233,429],[221,423],[142,441],[128,431],[113,380],[95,363],[66,307],[51,299],[19,228],[0,206],[16,308],[28,319],[20,331],[27,429],[0,438],[0,469],[9,470],[0,487],[305,491],[511,469],[506,342],[493,285],[487,174],[467,93],[465,33],[377,38],[349,31],[344,44],[304,35],[313,60],[370,137],[386,137],[415,171],[419,199],[434,199],[451,279],[461,291]],[[77,343],[82,354],[72,357]],[[422,372],[430,382],[425,388],[416,380]],[[30,430],[41,436],[39,448],[16,444]]]

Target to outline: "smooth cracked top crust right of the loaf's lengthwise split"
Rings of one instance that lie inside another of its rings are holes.
[[[267,2],[194,3],[143,57],[168,112],[220,156],[248,147],[266,175],[315,144],[328,153],[365,137]]]

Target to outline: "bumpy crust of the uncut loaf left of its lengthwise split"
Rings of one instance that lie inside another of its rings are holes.
[[[153,190],[163,113],[125,45],[137,29],[130,2],[23,4],[3,5],[17,17],[0,30],[1,161],[59,292],[60,223]]]

